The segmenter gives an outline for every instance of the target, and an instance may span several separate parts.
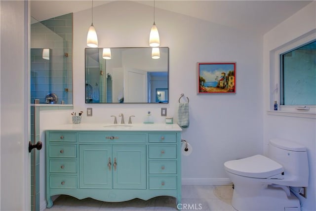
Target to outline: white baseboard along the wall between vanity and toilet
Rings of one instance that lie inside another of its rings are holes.
[[[182,178],[183,185],[231,185],[229,178]]]

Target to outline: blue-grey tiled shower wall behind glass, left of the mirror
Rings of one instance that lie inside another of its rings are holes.
[[[31,24],[31,103],[55,93],[57,104],[73,103],[73,14]],[[50,59],[42,49],[50,49]]]

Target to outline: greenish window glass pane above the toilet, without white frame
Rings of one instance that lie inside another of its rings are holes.
[[[316,40],[280,54],[280,105],[316,105]]]

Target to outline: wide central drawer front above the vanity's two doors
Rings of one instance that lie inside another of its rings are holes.
[[[79,133],[79,142],[146,142],[145,133]]]

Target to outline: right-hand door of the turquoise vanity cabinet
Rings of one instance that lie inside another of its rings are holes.
[[[146,146],[113,146],[113,188],[146,189]]]

